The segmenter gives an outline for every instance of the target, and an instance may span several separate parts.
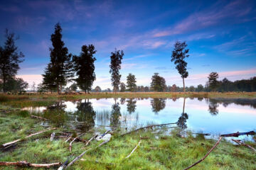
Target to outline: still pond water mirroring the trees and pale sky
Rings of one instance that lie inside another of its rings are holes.
[[[102,98],[24,109],[79,130],[97,125],[129,129],[149,123],[176,123],[172,126],[212,135],[256,130],[256,99]]]

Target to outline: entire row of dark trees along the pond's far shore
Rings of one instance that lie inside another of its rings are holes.
[[[28,88],[28,83],[21,78],[16,78],[19,64],[23,62],[24,55],[18,50],[15,41],[18,38],[14,33],[6,30],[5,42],[0,46],[0,89],[4,93],[7,91],[24,91]],[[85,93],[90,91],[102,91],[100,86],[92,89],[92,84],[96,80],[95,64],[96,61],[94,45],[82,45],[79,55],[73,55],[68,52],[63,42],[62,28],[60,23],[55,24],[54,33],[50,35],[52,47],[50,47],[50,62],[44,70],[43,82],[38,84],[38,91],[57,91],[61,94],[65,91],[77,91],[78,88]],[[185,86],[185,79],[188,77],[187,62],[185,61],[189,49],[186,42],[176,41],[174,50],[171,54],[171,62],[174,62],[178,73],[183,80],[183,87],[166,86],[166,80],[159,73],[154,73],[151,77],[150,86],[137,86],[137,80],[134,74],[129,73],[127,83],[121,82],[122,75],[119,73],[121,69],[122,59],[124,57],[123,50],[115,49],[110,53],[110,74],[113,91],[256,91],[255,77],[248,80],[229,81],[223,79],[218,81],[218,73],[209,74],[206,85]],[[69,82],[73,82],[67,87]],[[35,89],[33,84],[32,89]],[[111,91],[106,89],[105,91]]]

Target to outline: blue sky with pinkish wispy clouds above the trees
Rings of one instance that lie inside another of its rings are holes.
[[[189,49],[186,86],[206,84],[210,72],[235,81],[256,76],[256,1],[19,1],[0,4],[0,45],[4,30],[16,33],[25,55],[18,76],[41,83],[50,62],[50,35],[56,23],[73,55],[82,45],[95,45],[96,81],[110,88],[110,53],[124,50],[121,81],[135,74],[137,85],[149,86],[158,72],[167,85],[182,86],[171,62],[176,40]]]

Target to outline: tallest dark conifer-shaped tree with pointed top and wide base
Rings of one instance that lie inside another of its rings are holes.
[[[43,84],[50,90],[55,86],[58,94],[61,94],[63,86],[73,77],[73,64],[70,61],[72,55],[68,54],[68,48],[64,46],[61,32],[60,23],[57,23],[50,37],[53,45],[50,47],[50,63],[43,74]]]

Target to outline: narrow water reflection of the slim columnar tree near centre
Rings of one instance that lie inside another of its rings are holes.
[[[110,115],[110,126],[117,128],[121,125],[119,117],[121,116],[119,103],[114,102],[112,105],[112,111]]]

